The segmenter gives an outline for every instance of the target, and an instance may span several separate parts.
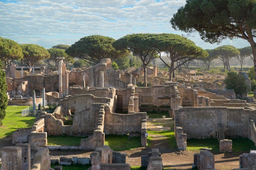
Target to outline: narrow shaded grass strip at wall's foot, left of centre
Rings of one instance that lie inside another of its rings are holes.
[[[80,146],[81,139],[87,137],[76,137],[76,136],[47,136],[47,145],[61,145],[61,146]]]

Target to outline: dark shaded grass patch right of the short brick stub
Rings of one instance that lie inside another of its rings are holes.
[[[255,145],[252,140],[245,137],[229,138],[232,140],[232,150],[233,152],[244,152],[250,151],[250,149],[255,150]]]

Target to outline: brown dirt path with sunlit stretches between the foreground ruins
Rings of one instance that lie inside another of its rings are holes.
[[[147,120],[147,129],[153,131],[166,130],[173,120]],[[171,129],[173,130],[173,129]],[[200,151],[179,151],[172,149],[168,144],[168,138],[158,134],[149,134],[153,137],[150,147],[141,147],[132,151],[123,151],[127,154],[126,162],[131,166],[141,165],[141,156],[147,155],[152,148],[158,148],[161,153],[164,169],[191,169],[194,161],[194,153]],[[212,152],[212,151],[211,151]],[[242,153],[218,153],[212,152],[215,158],[215,169],[226,170],[239,168],[239,155]]]

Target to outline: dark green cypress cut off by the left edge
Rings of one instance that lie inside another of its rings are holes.
[[[0,68],[2,67],[2,62],[0,61]],[[2,120],[5,117],[5,109],[8,105],[8,97],[6,94],[7,84],[5,79],[5,71],[0,69],[0,126],[2,126]]]

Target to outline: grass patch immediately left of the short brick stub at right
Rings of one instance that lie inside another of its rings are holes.
[[[213,151],[219,151],[219,141],[217,138],[187,139],[187,150],[200,150],[201,148],[209,148]]]

